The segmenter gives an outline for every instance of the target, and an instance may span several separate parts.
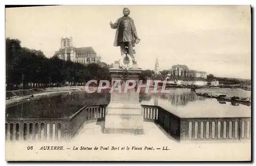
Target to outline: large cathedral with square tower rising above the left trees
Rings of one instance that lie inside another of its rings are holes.
[[[93,47],[74,47],[72,37],[60,40],[60,48],[54,54],[59,59],[65,61],[78,62],[81,64],[97,63],[98,56]]]

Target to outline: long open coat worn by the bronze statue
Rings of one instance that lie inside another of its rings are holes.
[[[114,46],[120,46],[120,43],[118,43],[118,35],[119,35],[119,25],[121,20],[123,19],[123,17],[118,18],[118,20],[113,24],[113,26],[111,26],[112,29],[116,29],[116,35],[115,35],[115,41],[114,41]],[[138,35],[137,35],[137,31],[135,28],[135,24],[134,24],[134,20],[129,17],[131,24],[132,24],[132,35],[133,35],[133,47],[135,47],[135,39],[139,39]]]

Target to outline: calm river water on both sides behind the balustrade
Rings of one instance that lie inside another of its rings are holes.
[[[161,106],[182,118],[251,116],[251,106],[197,96],[190,89],[172,88],[170,93],[165,94],[141,93],[139,100],[144,105]],[[17,103],[6,108],[6,118],[68,118],[84,105],[101,105],[109,102],[108,92],[93,94],[84,91],[65,92],[52,97],[30,99],[23,104]]]

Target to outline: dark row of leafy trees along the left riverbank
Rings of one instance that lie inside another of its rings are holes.
[[[6,39],[6,86],[7,90],[83,84],[90,79],[110,80],[110,65],[105,63],[87,66],[63,61],[57,57],[47,58],[40,50],[22,47],[18,39]]]

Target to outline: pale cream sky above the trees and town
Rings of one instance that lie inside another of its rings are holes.
[[[251,78],[250,6],[52,6],[6,9],[6,37],[50,58],[61,37],[74,47],[92,46],[101,61],[121,57],[109,22],[129,7],[140,43],[135,59],[142,69],[187,65],[219,77]]]

